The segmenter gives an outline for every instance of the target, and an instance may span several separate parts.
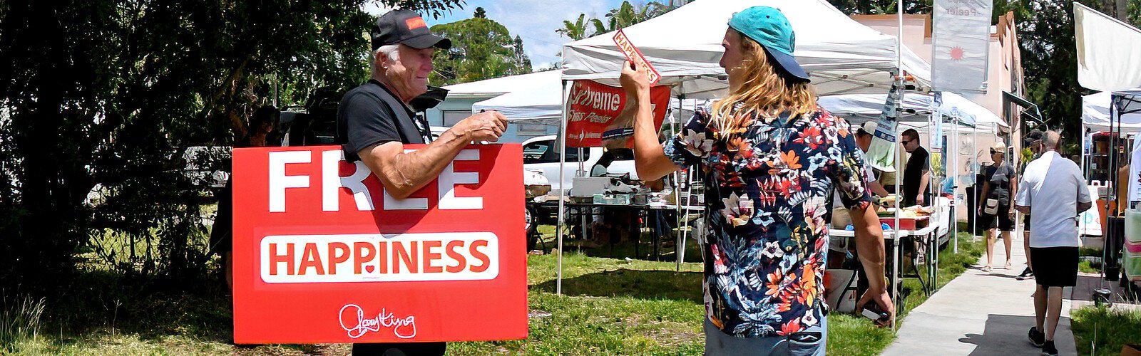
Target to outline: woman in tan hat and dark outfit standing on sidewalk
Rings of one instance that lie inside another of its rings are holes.
[[[990,146],[990,159],[994,163],[987,167],[982,183],[982,204],[979,207],[979,224],[987,230],[984,234],[987,238],[987,265],[984,272],[993,269],[995,240],[998,237],[997,230],[1002,230],[1002,240],[1006,245],[1006,265],[1010,269],[1011,241],[1010,232],[1014,230],[1014,208],[1013,200],[1010,199],[1014,191],[1014,169],[1006,164],[1006,145],[1001,141]]]

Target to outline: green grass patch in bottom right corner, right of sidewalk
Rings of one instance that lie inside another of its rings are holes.
[[[1087,306],[1070,310],[1079,355],[1122,355],[1122,346],[1141,345],[1141,310]]]

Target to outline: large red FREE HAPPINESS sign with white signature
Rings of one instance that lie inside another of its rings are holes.
[[[339,146],[234,149],[234,341],[526,338],[523,204],[519,145],[403,200]]]

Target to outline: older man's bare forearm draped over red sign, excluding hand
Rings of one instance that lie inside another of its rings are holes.
[[[389,195],[405,199],[436,179],[469,141],[448,130],[427,147],[404,153],[404,145],[387,143],[362,149],[361,159]],[[396,149],[397,152],[393,152]],[[367,154],[366,152],[367,151]]]

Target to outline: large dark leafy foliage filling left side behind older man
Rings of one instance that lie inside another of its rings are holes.
[[[0,1],[0,281],[66,288],[106,229],[156,257],[123,272],[204,273],[211,197],[184,152],[243,137],[275,86],[290,105],[363,81],[366,1]]]

